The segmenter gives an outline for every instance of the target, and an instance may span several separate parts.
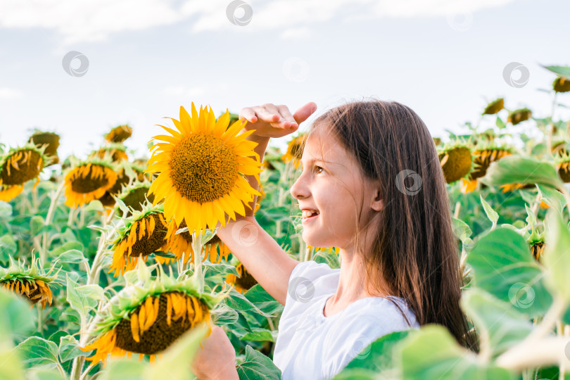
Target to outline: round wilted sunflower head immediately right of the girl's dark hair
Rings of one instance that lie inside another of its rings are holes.
[[[471,171],[471,148],[465,141],[452,141],[438,148],[443,177],[448,184],[465,177]]]

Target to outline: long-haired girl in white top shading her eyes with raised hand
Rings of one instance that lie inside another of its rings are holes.
[[[262,158],[271,137],[298,129],[308,103],[243,108],[244,131]],[[285,305],[274,363],[282,379],[330,379],[377,338],[436,323],[474,348],[460,310],[457,246],[436,147],[424,122],[394,101],[358,101],[312,124],[291,195],[303,210],[303,240],[338,247],[341,268],[297,262],[253,217],[218,229],[258,283]],[[252,177],[249,183],[258,189]],[[257,198],[257,197],[255,197]],[[227,219],[229,219],[227,217]],[[220,226],[220,224],[218,224]],[[238,379],[232,344],[220,327],[203,341],[199,379]]]

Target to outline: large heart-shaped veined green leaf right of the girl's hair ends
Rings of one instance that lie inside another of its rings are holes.
[[[467,264],[476,286],[517,310],[535,317],[550,308],[552,296],[545,288],[543,270],[517,232],[501,227],[482,236],[467,255]]]

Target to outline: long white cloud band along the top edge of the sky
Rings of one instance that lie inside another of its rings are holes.
[[[101,41],[115,32],[144,30],[191,20],[193,32],[286,28],[282,38],[307,33],[305,25],[332,18],[441,16],[474,13],[515,0],[275,0],[246,1],[247,25],[227,18],[229,0],[2,0],[0,27],[39,27],[63,37],[63,44]],[[238,11],[243,13],[243,8]],[[239,14],[236,14],[239,17]],[[305,29],[303,29],[305,27]]]

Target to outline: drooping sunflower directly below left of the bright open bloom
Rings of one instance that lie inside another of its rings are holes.
[[[114,270],[115,277],[137,267],[139,256],[146,261],[148,255],[165,248],[167,243],[167,222],[162,204],[148,205],[141,212],[134,211],[131,217],[124,218],[124,222],[116,230],[117,237],[111,246],[113,263],[109,272]],[[155,259],[161,263],[170,262],[170,259],[157,255]]]

